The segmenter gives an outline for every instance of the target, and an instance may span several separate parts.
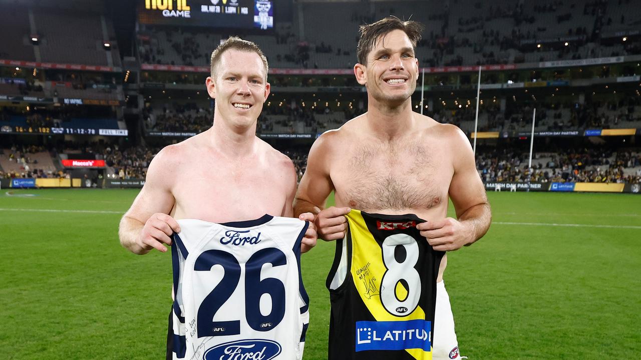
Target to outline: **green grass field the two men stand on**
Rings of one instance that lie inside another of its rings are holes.
[[[0,190],[0,358],[164,358],[171,256],[136,256],[117,238],[136,194]],[[462,354],[641,357],[641,196],[488,195],[489,233],[445,272]],[[303,256],[306,360],[326,359],[333,251],[320,241]]]

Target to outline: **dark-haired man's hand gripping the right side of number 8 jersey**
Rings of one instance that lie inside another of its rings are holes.
[[[416,228],[437,251],[458,250],[472,241],[470,229],[454,218],[422,222]]]

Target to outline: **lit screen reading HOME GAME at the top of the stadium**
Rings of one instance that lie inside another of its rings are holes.
[[[273,0],[138,0],[141,24],[274,28]]]

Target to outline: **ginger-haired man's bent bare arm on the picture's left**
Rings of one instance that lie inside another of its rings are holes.
[[[174,206],[174,197],[171,193],[171,176],[167,176],[167,168],[171,165],[167,164],[170,154],[167,154],[166,148],[156,155],[149,169],[147,170],[147,177],[142,190],[138,196],[133,200],[131,208],[124,214],[121,219],[118,235],[121,245],[133,252],[134,254],[142,255],[149,252],[149,250],[156,248],[160,251],[166,251],[162,244],[158,243],[157,246],[145,245],[140,241],[140,236],[145,224],[152,218],[160,220],[161,217],[157,213],[169,214]],[[169,166],[168,166],[169,165]],[[165,221],[162,219],[160,221]],[[151,229],[151,231],[158,229]],[[166,230],[166,229],[165,229]],[[171,230],[171,229],[169,229]],[[160,230],[158,230],[160,231]],[[163,237],[162,234],[154,231],[156,237]],[[165,231],[166,234],[167,231]]]

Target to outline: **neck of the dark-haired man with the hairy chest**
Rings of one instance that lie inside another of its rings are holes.
[[[389,106],[369,99],[367,120],[370,131],[378,138],[392,141],[407,133],[414,125],[412,102],[408,99],[399,106]]]

